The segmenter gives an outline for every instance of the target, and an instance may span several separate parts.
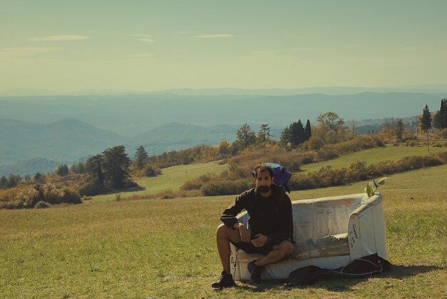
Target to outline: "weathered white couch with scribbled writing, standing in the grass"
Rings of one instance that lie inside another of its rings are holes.
[[[382,196],[366,193],[292,201],[293,257],[266,265],[262,279],[284,279],[306,265],[334,269],[351,260],[378,253],[386,255],[386,231]],[[238,215],[247,223],[248,213]],[[248,254],[231,245],[231,273],[235,280],[248,280],[247,264],[262,255]]]

